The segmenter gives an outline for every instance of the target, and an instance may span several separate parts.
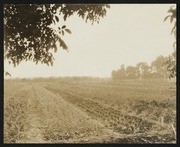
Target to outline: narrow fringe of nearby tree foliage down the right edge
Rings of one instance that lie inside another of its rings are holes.
[[[171,14],[166,16],[164,18],[164,21],[170,18],[170,22],[173,23],[171,34],[174,35],[176,39],[176,8],[173,9],[173,7],[174,6],[170,7],[170,9],[167,11],[168,13],[171,13]],[[173,43],[173,47],[174,47],[174,52],[169,55],[165,63],[167,66],[167,70],[169,72],[169,78],[176,77],[176,41]]]

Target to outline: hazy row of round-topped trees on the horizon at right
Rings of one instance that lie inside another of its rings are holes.
[[[158,56],[151,65],[146,62],[139,62],[136,66],[127,66],[124,64],[120,66],[120,69],[113,70],[111,76],[113,79],[168,79],[169,71],[167,70],[168,57]]]

